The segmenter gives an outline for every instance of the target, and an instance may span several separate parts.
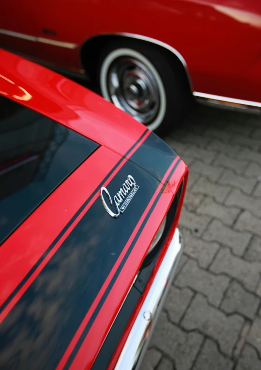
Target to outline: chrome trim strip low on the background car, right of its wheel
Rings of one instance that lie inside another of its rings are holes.
[[[193,96],[195,98],[199,98],[199,100],[202,99],[202,100],[206,100],[209,102],[226,105],[226,106],[231,104],[232,106],[238,106],[238,108],[243,108],[243,109],[247,109],[247,107],[261,108],[261,103],[258,103],[256,101],[226,98],[224,96],[205,94],[205,93],[200,93],[196,91],[193,92]]]

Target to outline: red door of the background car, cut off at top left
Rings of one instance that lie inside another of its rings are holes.
[[[34,59],[38,44],[33,6],[34,0],[0,1],[0,47]]]

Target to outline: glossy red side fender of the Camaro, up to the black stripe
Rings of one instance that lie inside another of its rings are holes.
[[[95,93],[0,50],[0,94],[123,155],[146,128]]]

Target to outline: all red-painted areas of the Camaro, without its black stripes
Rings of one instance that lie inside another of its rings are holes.
[[[33,108],[101,144],[101,147],[53,191],[1,245],[0,281],[5,282],[4,285],[2,284],[0,290],[1,304],[32,269],[39,257],[48,249],[52,241],[59,235],[89,195],[92,194],[97,185],[114,168],[121,156],[137,141],[145,128],[133,118],[82,86],[2,50],[0,50],[0,94]],[[139,141],[137,147],[142,144],[142,141],[146,139],[147,135],[149,135],[149,131]],[[106,182],[104,182],[104,186],[114,177],[115,173],[119,171],[124,162],[127,161],[135,150],[136,148],[126,155],[126,158],[118,165]],[[175,158],[171,168],[173,168],[177,160],[178,157]],[[164,183],[171,168],[169,168],[162,179],[162,183]],[[104,338],[121,307],[122,301],[139,270],[149,245],[167,213],[177,187],[180,185],[183,177],[186,176],[187,170],[187,166],[181,161],[168,184],[165,184],[166,187],[162,192],[156,208],[150,216],[144,231],[139,236],[134,250],[125,263],[89,334],[80,347],[71,365],[71,369],[87,370],[93,364]],[[87,177],[89,173],[92,176]],[[86,178],[88,178],[88,181],[86,181]],[[84,184],[84,186],[80,186],[80,184]],[[162,185],[158,186],[157,192],[151,202],[153,202],[159,191],[162,191]],[[68,197],[68,194],[70,194],[70,197]],[[19,288],[20,290],[18,290],[17,294],[0,314],[0,322],[14,307],[27,287],[30,286],[55,251],[57,251],[61,242],[70,233],[70,230],[79,222],[97,197],[99,197],[99,191],[96,192],[67,232],[59,239],[52,252],[42,260],[31,277]],[[148,210],[149,206],[139,220],[136,227],[137,230]],[[173,231],[176,227],[178,217],[179,215],[175,218]],[[136,229],[133,231],[128,244],[131,243],[132,238],[136,235]],[[126,244],[117,264],[120,263],[121,258],[125,254],[128,244]],[[116,269],[116,265],[114,269]],[[103,289],[105,285],[106,282]],[[97,305],[99,303],[99,294],[90,311],[87,313],[87,317],[72,339],[69,348],[64,353],[58,369],[63,368],[64,361],[74,348],[77,336],[80,335],[86,325],[88,315],[94,309],[95,304]],[[115,359],[117,357],[116,355],[114,357]]]

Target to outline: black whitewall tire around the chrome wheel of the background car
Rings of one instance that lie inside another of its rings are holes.
[[[150,64],[146,62],[145,67],[148,67],[149,72],[153,73],[154,82],[157,84],[159,103],[157,104],[158,113],[155,113],[157,116],[152,117],[151,121],[145,124],[159,135],[166,134],[169,130],[179,126],[184,118],[185,110],[188,110],[186,108],[188,108],[191,97],[188,80],[186,76],[184,77],[186,75],[184,67],[180,67],[180,62],[175,60],[175,56],[170,58],[168,53],[169,51],[148,42],[122,38],[122,40],[113,40],[104,47],[98,63],[99,92],[105,99],[112,101],[108,87],[108,75],[113,63],[119,63],[119,58],[133,58],[134,56],[141,63],[149,61]],[[145,59],[141,60],[141,56]],[[151,65],[155,69],[151,69]],[[155,70],[157,74],[155,74]],[[158,76],[162,84],[160,84]],[[152,106],[155,107],[155,105]],[[165,109],[162,109],[162,106]],[[130,112],[128,111],[128,113]]]

